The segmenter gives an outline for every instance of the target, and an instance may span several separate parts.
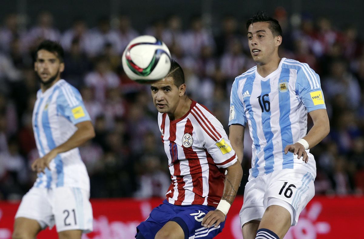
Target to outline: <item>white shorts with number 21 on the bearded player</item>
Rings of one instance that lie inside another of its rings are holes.
[[[15,218],[37,220],[41,228],[52,228],[57,232],[82,230],[92,231],[92,207],[90,193],[75,187],[46,189],[32,187],[21,199]]]

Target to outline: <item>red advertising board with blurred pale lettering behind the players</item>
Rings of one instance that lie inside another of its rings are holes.
[[[135,227],[147,218],[162,199],[91,200],[94,211],[94,232],[83,239],[130,239]],[[237,197],[230,208],[225,228],[217,239],[242,239],[239,211],[243,203]],[[0,202],[0,239],[10,239],[14,216],[19,203]],[[300,215],[297,226],[291,227],[285,239],[357,238],[364,224],[364,197],[314,197]],[[38,239],[57,238],[55,228],[40,232]]]

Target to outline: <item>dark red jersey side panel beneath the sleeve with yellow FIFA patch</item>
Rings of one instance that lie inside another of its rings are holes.
[[[224,190],[225,169],[219,169],[211,155],[205,150],[206,159],[209,163],[209,197],[207,206],[217,207]]]

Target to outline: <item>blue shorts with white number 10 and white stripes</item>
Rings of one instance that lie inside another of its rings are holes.
[[[146,239],[154,238],[167,222],[173,221],[182,227],[185,238],[214,238],[222,231],[226,221],[220,223],[216,228],[201,226],[203,217],[211,210],[215,210],[215,208],[203,205],[173,205],[165,199],[163,204],[154,208],[149,217],[137,226],[137,235],[141,233]]]

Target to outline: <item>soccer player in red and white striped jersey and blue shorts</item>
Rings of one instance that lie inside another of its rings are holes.
[[[181,66],[151,83],[171,185],[163,204],[137,227],[137,239],[213,238],[222,231],[242,168],[221,123],[186,96]]]

